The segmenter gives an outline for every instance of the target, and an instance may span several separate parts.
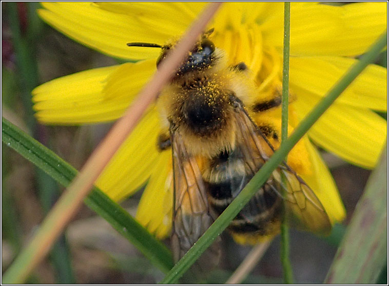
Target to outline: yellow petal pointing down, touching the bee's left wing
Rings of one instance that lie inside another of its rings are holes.
[[[142,194],[136,218],[157,237],[167,236],[171,229],[173,191],[171,151],[160,153],[154,172]]]

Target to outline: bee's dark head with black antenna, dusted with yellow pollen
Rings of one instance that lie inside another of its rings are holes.
[[[182,76],[192,71],[200,71],[207,68],[210,68],[212,63],[215,62],[217,57],[215,56],[215,45],[208,39],[208,36],[213,32],[213,29],[205,32],[200,41],[197,43],[195,48],[193,48],[189,53],[188,57],[185,59],[184,63],[177,70],[177,75]],[[167,57],[172,44],[169,45],[158,45],[158,44],[149,44],[149,43],[128,43],[129,47],[151,47],[151,48],[161,48],[162,52],[157,59],[157,68],[160,66],[162,61]]]

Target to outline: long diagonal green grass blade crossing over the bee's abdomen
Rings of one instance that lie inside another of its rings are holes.
[[[284,142],[265,165],[252,177],[242,192],[231,202],[224,212],[215,220],[195,245],[177,262],[169,271],[161,283],[174,283],[185,273],[186,270],[200,257],[210,246],[212,241],[228,226],[229,222],[240,212],[250,200],[252,195],[262,186],[270,173],[276,169],[287,153],[296,145],[298,140],[308,131],[316,120],[328,109],[336,98],[347,88],[349,84],[363,71],[368,64],[371,64],[381,50],[385,47],[387,40],[386,31],[378,41],[364,54],[359,62],[353,65],[345,75],[334,85],[320,103],[305,117],[293,134]]]

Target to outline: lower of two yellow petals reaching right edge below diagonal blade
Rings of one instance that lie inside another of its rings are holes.
[[[301,120],[319,101],[301,91],[294,103]],[[334,103],[308,131],[316,144],[352,164],[374,168],[387,134],[386,120],[371,110]]]

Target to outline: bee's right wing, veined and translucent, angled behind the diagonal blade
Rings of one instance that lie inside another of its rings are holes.
[[[251,151],[249,156],[259,161],[261,167],[261,164],[274,153],[273,146],[243,107],[237,111],[236,120],[243,138],[241,144],[246,146],[246,153],[250,152],[253,145],[255,146],[257,152]],[[273,171],[266,184],[284,199],[286,215],[291,224],[299,229],[316,233],[329,232],[332,226],[320,200],[285,162]]]

